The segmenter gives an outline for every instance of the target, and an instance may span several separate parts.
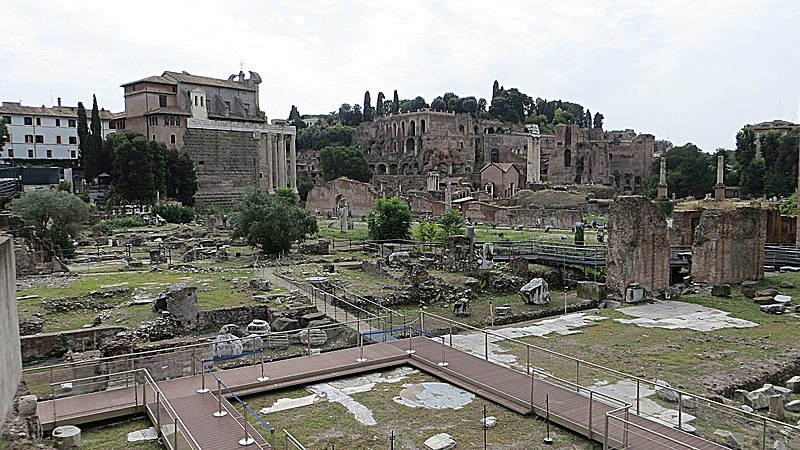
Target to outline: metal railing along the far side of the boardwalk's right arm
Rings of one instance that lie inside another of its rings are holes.
[[[530,375],[532,372],[540,372],[548,374],[548,377],[556,377],[558,379],[574,379],[575,382],[572,383],[572,385],[578,390],[585,389],[584,386],[586,384],[596,382],[597,380],[608,381],[609,377],[616,378],[618,380],[629,380],[631,383],[636,384],[636,397],[631,399],[631,412],[641,417],[646,417],[660,423],[665,423],[663,418],[648,414],[641,407],[642,401],[645,398],[643,391],[656,391],[664,388],[663,386],[657,385],[654,381],[639,378],[637,376],[604,367],[599,364],[529,344],[495,331],[483,330],[470,325],[462,324],[455,320],[429,312],[420,311],[419,320],[420,328],[425,330],[425,333],[428,335],[435,335],[435,333],[433,333],[431,330],[439,330],[442,333],[447,332],[448,334],[446,336],[447,340],[449,341],[449,346],[453,348],[459,347],[459,339],[454,339],[454,335],[457,336],[457,333],[460,330],[471,333],[482,333],[484,336],[484,345],[482,349],[483,352],[482,354],[478,353],[477,356],[481,356],[487,361],[492,360],[489,352],[490,343],[494,344],[502,341],[504,343],[511,344],[512,346],[520,348],[525,352],[525,373]],[[432,326],[435,325],[433,322],[439,322],[442,324],[442,326]],[[445,340],[444,337],[443,340]],[[463,345],[461,346],[461,350],[467,353],[476,354],[475,349]],[[509,364],[505,361],[492,362],[512,368],[514,370],[520,370],[519,364]],[[534,363],[537,365],[536,368],[532,366]],[[592,374],[599,374],[600,377],[594,378],[591,376]],[[692,415],[699,416],[699,411],[702,410],[706,415],[714,415],[718,418],[718,420],[729,423],[733,429],[747,430],[750,432],[750,435],[758,439],[760,444],[759,448],[761,449],[766,449],[767,436],[771,434],[781,434],[790,439],[796,439],[800,441],[800,426],[781,422],[755,413],[750,413],[735,406],[719,403],[674,387],[669,387],[668,389],[674,391],[677,395],[677,422],[674,424],[670,423],[668,425],[679,430],[686,431],[684,429],[684,414],[689,414],[689,412],[687,411],[684,403],[691,401]]]

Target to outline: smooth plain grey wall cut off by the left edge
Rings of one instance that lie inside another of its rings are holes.
[[[19,325],[17,315],[17,281],[14,275],[14,242],[8,236],[0,236],[0,418],[14,407],[22,375],[20,357]]]

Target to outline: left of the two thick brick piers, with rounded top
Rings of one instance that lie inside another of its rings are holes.
[[[658,208],[639,196],[618,197],[608,218],[608,290],[622,296],[631,283],[649,293],[669,286],[667,222]]]

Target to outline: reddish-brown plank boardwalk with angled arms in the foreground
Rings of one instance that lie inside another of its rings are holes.
[[[535,413],[545,416],[547,402],[551,421],[601,443],[606,435],[606,413],[617,410],[621,405],[619,401],[603,398],[600,394],[592,394],[583,388],[576,390],[574,386],[559,384],[553,379],[531,377],[481,357],[443,347],[441,341],[417,337],[410,344],[415,351],[411,355],[406,352],[409,348],[409,340],[406,339],[372,344],[363,349],[356,347],[264,363],[264,373],[269,376],[269,380],[264,382],[257,379],[261,375],[259,364],[219,370],[215,371],[215,375],[241,397],[356,373],[410,365],[521,414]],[[362,357],[362,351],[365,361],[359,362],[357,359]],[[441,364],[442,362],[447,364]],[[206,387],[216,390],[216,381],[211,375],[205,374],[202,377],[205,377]],[[55,425],[88,423],[141,412],[146,404],[151,420],[160,423],[165,441],[175,438],[183,440],[187,436],[196,440],[196,444],[179,443],[177,448],[241,448],[238,440],[244,437],[241,425],[242,407],[238,402],[231,403],[223,399],[223,409],[228,414],[214,417],[212,413],[218,409],[217,397],[214,391],[198,394],[196,391],[202,382],[201,375],[197,375],[157,383],[160,390],[158,395],[168,399],[170,407],[174,409],[172,413],[180,418],[178,429],[182,432],[181,435],[174,434],[175,421],[164,407],[158,408],[161,410],[159,413],[155,412],[155,390],[148,385],[42,401],[39,402],[38,412],[45,429],[52,429]],[[622,411],[613,415],[620,419],[626,418]],[[251,418],[251,422],[255,421]],[[621,420],[610,420],[609,424],[608,443],[614,448],[625,447],[623,443],[626,441],[626,448],[630,449],[726,448],[633,413],[627,416],[624,425]],[[266,432],[260,424],[256,429]],[[256,429],[248,428],[250,435],[258,443],[249,448],[270,449],[268,439]],[[190,438],[186,440],[191,440]],[[175,447],[170,445],[170,448]]]

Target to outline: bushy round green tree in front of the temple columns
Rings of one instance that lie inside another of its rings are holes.
[[[293,242],[317,232],[316,219],[297,200],[287,188],[275,194],[249,189],[234,209],[233,237],[244,238],[265,254],[288,253]]]

